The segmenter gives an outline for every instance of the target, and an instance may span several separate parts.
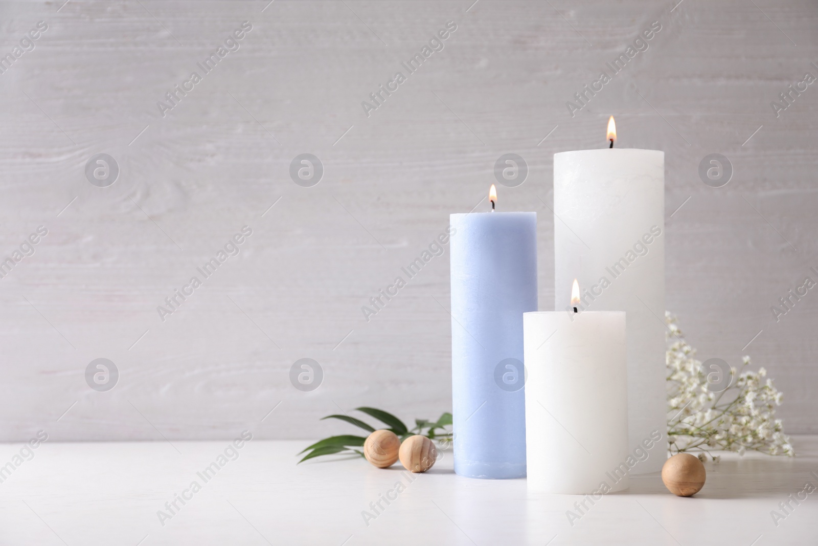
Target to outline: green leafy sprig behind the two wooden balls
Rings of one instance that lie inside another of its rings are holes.
[[[427,421],[426,419],[415,419],[415,427],[410,429],[400,419],[398,419],[398,417],[395,417],[392,413],[384,412],[383,409],[355,409],[359,412],[366,413],[366,415],[369,415],[370,417],[375,417],[375,419],[384,423],[384,425],[387,426],[386,430],[393,431],[395,435],[398,435],[398,438],[400,438],[401,441],[406,440],[409,436],[413,435],[423,435],[430,440],[438,440],[442,442],[452,441],[452,430],[447,428],[447,426],[452,426],[452,413],[443,413],[443,415],[438,417],[438,420],[434,422]],[[371,426],[369,423],[364,422],[357,417],[352,417],[349,415],[327,415],[326,417],[321,417],[321,421],[324,419],[340,419],[341,421],[348,422],[350,425],[357,426],[368,433],[375,432],[374,426]],[[363,452],[356,448],[362,447],[365,441],[366,436],[348,434],[330,436],[329,438],[317,441],[315,444],[303,449],[301,453],[304,453],[305,451],[308,453],[304,455],[299,463],[303,463],[310,458],[321,457],[322,455],[333,455],[335,453],[357,453],[363,457]],[[299,455],[301,453],[299,453]]]

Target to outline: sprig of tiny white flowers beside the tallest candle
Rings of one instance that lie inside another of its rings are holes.
[[[667,438],[671,453],[699,451],[699,459],[718,462],[711,450],[748,450],[793,457],[795,452],[784,435],[784,426],[775,418],[775,406],[782,395],[775,389],[766,370],[748,369],[750,357],[742,359],[739,370],[730,368],[730,386],[721,392],[708,389],[696,350],[687,344],[670,312],[667,323]]]

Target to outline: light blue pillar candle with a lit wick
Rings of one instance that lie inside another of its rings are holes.
[[[455,472],[524,477],[523,314],[537,310],[537,213],[449,221]]]

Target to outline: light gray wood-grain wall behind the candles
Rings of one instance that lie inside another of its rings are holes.
[[[437,417],[448,254],[369,322],[362,305],[514,152],[528,179],[499,206],[537,211],[551,309],[552,155],[605,146],[612,114],[618,146],[665,151],[668,308],[703,359],[767,368],[788,431],[818,431],[818,292],[778,323],[770,309],[818,281],[818,84],[771,108],[818,76],[816,3],[472,1],[3,2],[2,55],[48,29],[0,74],[0,254],[48,235],[0,279],[0,439],[315,437],[345,430],[318,417],[364,404]],[[164,93],[245,20],[240,49],[162,117]],[[443,51],[407,75],[448,20]],[[572,118],[573,93],[654,20],[649,49]],[[407,81],[367,117],[396,71]],[[326,169],[314,187],[288,174],[305,152]],[[119,164],[110,187],[85,177],[97,153]],[[710,153],[735,169],[725,187],[699,179]],[[240,255],[161,322],[157,305],[245,224]],[[119,368],[109,392],[85,382],[97,358]],[[290,385],[301,358],[324,368],[318,390]]]

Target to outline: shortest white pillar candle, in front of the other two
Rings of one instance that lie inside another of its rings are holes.
[[[627,489],[625,314],[523,315],[528,488]]]

